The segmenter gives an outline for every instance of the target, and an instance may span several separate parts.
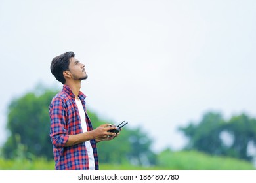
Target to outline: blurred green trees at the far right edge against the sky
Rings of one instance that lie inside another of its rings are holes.
[[[187,127],[179,127],[179,130],[189,139],[186,150],[245,160],[253,158],[247,154],[247,148],[249,142],[256,144],[256,120],[246,114],[225,121],[221,114],[208,112],[197,124],[190,123]],[[230,136],[230,145],[221,137],[224,132]]]

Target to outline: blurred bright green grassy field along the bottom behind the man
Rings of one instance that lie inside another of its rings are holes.
[[[158,155],[158,166],[140,167],[130,164],[111,165],[100,163],[101,170],[254,170],[252,163],[234,158],[209,156],[200,152],[170,152]],[[54,161],[44,158],[33,160],[0,158],[1,170],[53,170]]]

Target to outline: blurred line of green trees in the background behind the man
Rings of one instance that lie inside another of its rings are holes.
[[[2,148],[5,158],[17,156],[22,145],[26,158],[35,156],[53,160],[49,104],[57,92],[41,87],[12,99],[7,112],[10,135]],[[98,118],[92,110],[88,110],[88,113],[94,127],[112,123]],[[256,143],[256,120],[247,114],[224,120],[219,112],[207,112],[202,120],[179,127],[179,131],[188,138],[184,150],[198,150],[247,161],[253,159],[254,155],[248,154],[248,147]],[[151,150],[153,142],[143,129],[125,127],[114,141],[98,144],[99,160],[102,163],[156,165],[157,155]]]

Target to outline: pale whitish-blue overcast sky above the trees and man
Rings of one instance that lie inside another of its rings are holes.
[[[87,108],[181,150],[208,111],[256,118],[256,1],[1,0],[0,146],[7,107],[45,84],[66,51],[85,64]],[[26,109],[24,109],[26,110]],[[26,125],[26,124],[24,124]]]

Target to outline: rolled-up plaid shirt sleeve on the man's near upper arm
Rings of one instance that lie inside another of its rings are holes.
[[[66,107],[58,97],[54,98],[49,107],[51,118],[50,137],[53,146],[63,148],[68,141],[68,130],[66,125]]]

